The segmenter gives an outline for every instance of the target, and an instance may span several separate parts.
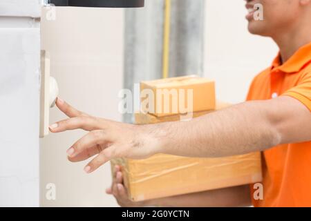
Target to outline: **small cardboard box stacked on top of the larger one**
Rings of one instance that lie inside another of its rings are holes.
[[[196,75],[142,81],[140,92],[142,112],[157,117],[216,108],[214,81]]]

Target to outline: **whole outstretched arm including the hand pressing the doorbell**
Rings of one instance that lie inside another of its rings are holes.
[[[116,157],[142,159],[156,153],[187,157],[224,157],[263,151],[279,144],[311,140],[311,114],[292,97],[245,102],[189,122],[132,125],[92,117],[61,99],[57,106],[69,119],[50,126],[59,133],[90,131],[68,151],[72,162],[97,155],[86,173]]]

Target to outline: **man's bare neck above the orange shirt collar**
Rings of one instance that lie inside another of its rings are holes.
[[[280,48],[281,62],[285,63],[302,46],[311,42],[311,24],[303,24],[298,28],[288,28],[284,33],[272,37]]]

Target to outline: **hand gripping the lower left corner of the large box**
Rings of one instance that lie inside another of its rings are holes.
[[[113,183],[111,187],[106,189],[106,193],[109,195],[113,195],[115,200],[117,200],[117,204],[122,207],[141,207],[146,206],[147,202],[133,202],[129,200],[129,196],[127,194],[127,190],[123,183],[123,174],[122,168],[119,165],[115,166],[115,171],[113,173]]]

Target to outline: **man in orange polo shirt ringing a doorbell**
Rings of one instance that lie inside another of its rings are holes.
[[[263,21],[253,17],[256,3],[263,6]],[[135,126],[88,116],[58,99],[57,106],[70,118],[50,131],[90,131],[67,151],[72,162],[97,155],[85,167],[87,173],[115,157],[263,151],[264,199],[254,200],[248,186],[237,186],[133,204],[126,200],[117,166],[116,181],[107,192],[120,204],[245,206],[252,200],[254,206],[311,206],[311,0],[247,0],[246,6],[249,32],[272,37],[280,49],[272,66],[255,77],[247,102],[189,122]]]

